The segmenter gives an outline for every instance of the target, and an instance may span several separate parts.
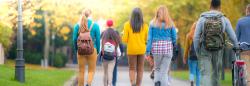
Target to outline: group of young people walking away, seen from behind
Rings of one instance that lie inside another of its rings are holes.
[[[250,5],[247,7],[248,16],[237,24],[237,36],[229,19],[220,12],[220,6],[220,0],[211,0],[211,10],[201,14],[186,37],[183,62],[186,64],[188,59],[192,86],[194,82],[196,86],[219,86],[225,41],[222,34],[227,33],[234,47],[239,47],[237,39],[250,42],[246,38],[249,35],[246,31],[250,32]],[[173,48],[176,47],[177,31],[166,6],[159,6],[149,25],[144,22],[141,9],[134,8],[130,19],[124,24],[122,37],[113,27],[111,19],[106,22],[107,29],[100,33],[98,24],[91,20],[91,13],[89,9],[82,12],[73,32],[79,64],[78,86],[84,86],[86,64],[86,86],[91,86],[98,55],[103,61],[103,85],[116,86],[117,59],[123,53],[122,43],[127,45],[131,86],[142,86],[145,59],[154,65],[154,85],[170,86],[168,72]],[[249,63],[249,52],[244,55]]]

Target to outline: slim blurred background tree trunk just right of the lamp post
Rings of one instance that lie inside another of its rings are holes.
[[[48,58],[49,58],[49,42],[50,42],[50,32],[49,32],[49,25],[48,25],[48,20],[47,20],[47,13],[44,12],[44,21],[45,21],[45,45],[44,45],[44,67],[48,67]]]

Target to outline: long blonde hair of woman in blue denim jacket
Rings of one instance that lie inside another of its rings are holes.
[[[174,23],[169,15],[168,9],[166,6],[161,5],[156,13],[155,13],[155,18],[153,20],[154,25],[158,26],[161,28],[162,22],[165,22],[165,28],[171,28],[174,26]]]

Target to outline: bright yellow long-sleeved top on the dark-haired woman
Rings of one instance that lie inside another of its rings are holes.
[[[128,55],[145,54],[148,37],[148,25],[143,24],[139,33],[133,33],[130,22],[124,24],[122,41],[127,44]]]

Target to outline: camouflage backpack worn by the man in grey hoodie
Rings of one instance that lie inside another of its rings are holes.
[[[225,35],[223,32],[222,17],[205,17],[204,31],[202,32],[200,45],[203,44],[208,51],[218,51],[224,47]]]

